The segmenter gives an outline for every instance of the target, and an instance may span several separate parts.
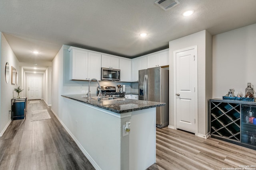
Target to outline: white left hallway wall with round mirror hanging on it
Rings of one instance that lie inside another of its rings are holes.
[[[9,63],[10,66],[10,75],[11,75],[11,67],[14,66],[16,70],[19,69],[19,61],[14,55],[10,45],[6,41],[4,35],[0,32],[0,63],[1,63],[1,76],[0,76],[0,136],[4,133],[7,126],[11,121],[11,114],[9,110],[11,110],[11,99],[17,96],[17,93],[14,92],[14,88],[20,86],[20,82],[18,85],[11,85],[11,78],[9,82],[5,81],[5,64]],[[22,88],[22,87],[21,87]]]

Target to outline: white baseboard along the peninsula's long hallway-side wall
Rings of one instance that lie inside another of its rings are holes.
[[[86,158],[91,162],[92,166],[96,169],[96,170],[101,170],[100,166],[98,166],[98,164],[92,159],[92,157],[90,156],[90,154],[88,154],[88,152],[86,152],[86,150],[84,149],[84,147],[82,147],[82,145],[79,143],[79,141],[76,139],[76,137],[70,132],[70,130],[68,129],[68,127],[66,127],[66,125],[62,122],[62,120],[58,117],[58,115],[51,109],[52,113],[57,117],[58,121],[60,121],[60,123],[62,124],[62,126],[64,127],[64,129],[66,129],[66,131],[68,132],[68,134],[72,137],[72,139],[75,141],[76,145],[79,147],[79,149],[83,152],[84,156],[86,156]]]

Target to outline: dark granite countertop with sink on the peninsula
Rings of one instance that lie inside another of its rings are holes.
[[[76,100],[78,102],[82,102],[85,104],[89,104],[95,107],[100,107],[102,109],[112,111],[115,113],[127,113],[130,111],[148,109],[152,107],[165,106],[166,103],[159,102],[149,102],[144,100],[133,100],[133,99],[122,99],[122,100],[89,100],[87,98],[82,98],[81,94],[69,94],[69,95],[61,95],[65,98],[70,98]]]

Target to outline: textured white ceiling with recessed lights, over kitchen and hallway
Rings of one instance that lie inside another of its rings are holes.
[[[134,58],[204,29],[216,35],[256,23],[256,0],[178,0],[167,11],[155,1],[2,0],[0,31],[26,72],[35,63],[44,72],[63,44]]]

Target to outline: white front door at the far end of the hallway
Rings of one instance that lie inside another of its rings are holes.
[[[42,98],[42,77],[28,77],[28,100]]]

